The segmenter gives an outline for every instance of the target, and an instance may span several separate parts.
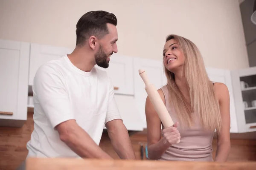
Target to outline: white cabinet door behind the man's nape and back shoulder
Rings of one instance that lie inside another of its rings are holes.
[[[70,54],[72,51],[70,48],[32,43],[30,48],[29,85],[33,84],[35,73],[41,65],[65,54]]]

